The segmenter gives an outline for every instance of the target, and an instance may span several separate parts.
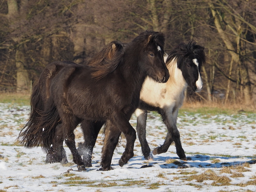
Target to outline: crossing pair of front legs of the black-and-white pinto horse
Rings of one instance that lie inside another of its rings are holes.
[[[166,152],[170,147],[171,143],[174,141],[177,155],[180,157],[180,159],[187,161],[187,157],[180,142],[180,132],[178,131],[178,128],[176,126],[177,115],[178,110],[163,114],[164,123],[167,126],[168,133],[166,135],[166,140],[164,141],[164,144],[154,149],[153,154],[155,155]]]

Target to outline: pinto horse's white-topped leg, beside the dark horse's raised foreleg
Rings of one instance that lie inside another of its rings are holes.
[[[147,160],[150,158],[153,159],[152,154],[150,153],[149,144],[147,143],[147,139],[146,139],[147,111],[136,109],[135,112],[137,116],[136,130],[137,130],[138,138],[140,140],[142,153],[145,159]]]

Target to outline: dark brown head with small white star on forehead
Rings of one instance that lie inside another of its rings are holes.
[[[144,31],[135,38],[144,39],[144,45],[141,47],[142,62],[140,67],[150,78],[159,83],[166,83],[170,74],[164,63],[164,34],[154,31]]]

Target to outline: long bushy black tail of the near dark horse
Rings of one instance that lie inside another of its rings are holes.
[[[55,128],[61,123],[48,90],[50,78],[58,72],[56,69],[56,63],[48,65],[33,88],[30,116],[17,138],[25,147],[32,148],[41,145],[42,150],[48,152],[52,145]]]

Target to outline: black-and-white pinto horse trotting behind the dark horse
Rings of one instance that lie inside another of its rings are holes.
[[[140,92],[140,103],[136,110],[137,134],[145,159],[152,158],[146,140],[147,111],[158,112],[168,129],[164,144],[156,147],[153,154],[166,152],[175,142],[176,153],[182,160],[187,160],[180,142],[180,133],[176,126],[178,109],[182,106],[187,86],[194,92],[202,89],[201,66],[206,62],[204,47],[194,41],[180,43],[165,56],[166,66],[170,73],[167,83],[160,84],[146,78]]]

